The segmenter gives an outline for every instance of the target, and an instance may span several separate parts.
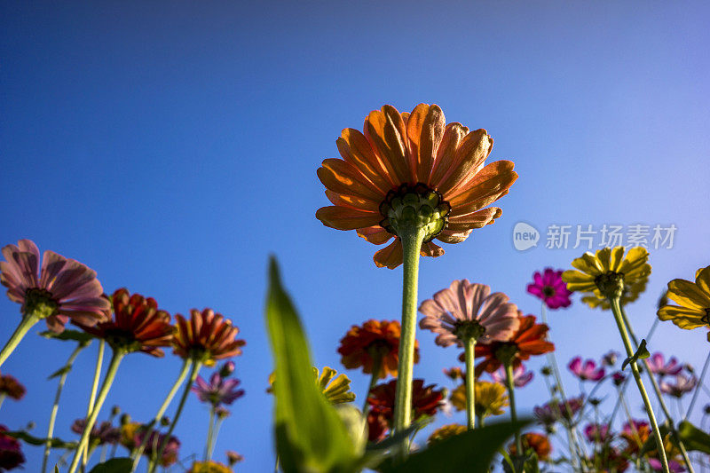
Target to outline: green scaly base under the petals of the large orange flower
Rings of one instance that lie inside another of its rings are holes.
[[[380,214],[384,217],[380,225],[397,236],[413,228],[424,228],[426,243],[446,228],[449,212],[451,205],[437,191],[421,182],[403,184],[387,193],[380,204]]]

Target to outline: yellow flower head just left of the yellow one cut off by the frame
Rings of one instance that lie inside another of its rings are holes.
[[[612,298],[623,295],[624,287],[633,288],[640,280],[651,274],[646,248],[602,248],[596,255],[590,252],[572,261],[580,271],[565,271],[562,280],[571,291],[593,292],[597,298]]]

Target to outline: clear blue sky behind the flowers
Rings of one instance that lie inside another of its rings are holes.
[[[3,11],[0,243],[35,240],[91,266],[107,291],[127,287],[171,313],[209,306],[231,317],[248,343],[236,359],[247,395],[216,458],[241,452],[244,470],[273,461],[268,255],[279,257],[319,366],[340,367],[335,350],[352,324],[398,319],[401,269],[375,268],[375,246],[314,217],[327,205],[319,163],[337,155],[340,130],[361,128],[385,103],[437,103],[447,121],[485,128],[490,159],[515,162],[520,176],[495,225],[422,261],[420,300],[468,278],[537,314],[525,294],[532,273],[566,268],[582,250],[518,252],[519,221],[543,240],[551,224],[676,225],[674,248],[651,250],[649,288],[629,307],[639,333],[668,280],[710,264],[706,4],[69,2]],[[12,332],[18,309],[0,301],[0,334]],[[575,301],[549,320],[561,363],[621,350],[610,314]],[[445,383],[441,369],[457,352],[430,333],[418,338],[415,376]],[[700,367],[706,332],[661,324],[651,350]],[[46,377],[70,351],[28,335],[3,367],[28,395],[6,401],[0,422],[34,421],[41,435],[55,390]],[[95,353],[94,344],[67,382],[63,438],[85,410]],[[147,419],[178,370],[172,356],[131,355],[106,407]],[[367,377],[348,374],[361,397]],[[523,411],[545,399],[540,377],[522,392]],[[177,426],[184,455],[201,453],[207,419],[190,398]],[[40,450],[26,453],[36,470]]]

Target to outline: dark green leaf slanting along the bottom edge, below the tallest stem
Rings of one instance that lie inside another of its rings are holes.
[[[517,430],[530,423],[529,420],[501,422],[469,430],[431,445],[420,453],[414,453],[406,461],[386,473],[410,471],[466,471],[487,473],[495,453]]]

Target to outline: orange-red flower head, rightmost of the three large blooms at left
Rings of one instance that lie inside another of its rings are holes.
[[[196,359],[212,367],[217,359],[241,355],[244,340],[237,340],[239,328],[232,325],[232,320],[225,319],[212,309],[190,311],[190,319],[180,314],[177,319],[177,332],[173,338],[173,352],[183,359]]]

